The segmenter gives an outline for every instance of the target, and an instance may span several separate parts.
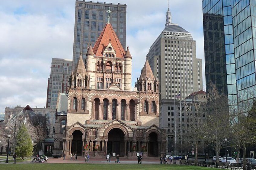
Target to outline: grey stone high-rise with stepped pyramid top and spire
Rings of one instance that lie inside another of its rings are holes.
[[[203,88],[202,60],[196,58],[196,41],[190,32],[171,23],[169,8],[165,28],[147,57],[160,82],[160,99],[174,99],[181,91],[183,100]]]

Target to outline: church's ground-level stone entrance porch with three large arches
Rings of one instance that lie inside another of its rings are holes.
[[[143,153],[144,157],[158,157],[165,152],[165,131],[154,125],[146,129],[132,129],[118,123],[102,128],[77,125],[80,127],[67,127],[69,135],[64,139],[63,147],[66,155],[90,153],[91,156],[105,156],[116,153],[131,158],[136,157],[137,152]]]

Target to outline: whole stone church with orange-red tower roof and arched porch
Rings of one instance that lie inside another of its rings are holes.
[[[68,111],[56,111],[55,155],[126,158],[165,154],[165,130],[159,126],[159,82],[148,60],[131,90],[132,56],[110,23],[94,47],[82,54],[70,76]]]

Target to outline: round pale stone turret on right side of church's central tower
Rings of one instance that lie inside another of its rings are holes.
[[[125,56],[124,56],[124,90],[131,90],[132,87],[132,56],[127,47]]]

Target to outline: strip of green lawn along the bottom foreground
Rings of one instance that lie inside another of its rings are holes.
[[[36,169],[36,170],[85,170],[85,169],[129,169],[129,170],[139,170],[139,169],[161,169],[161,170],[210,170],[212,168],[198,167],[198,166],[187,166],[187,165],[166,165],[166,164],[56,164],[56,163],[28,163],[28,164],[0,164],[1,169],[18,169],[18,170],[27,170],[27,169]]]

